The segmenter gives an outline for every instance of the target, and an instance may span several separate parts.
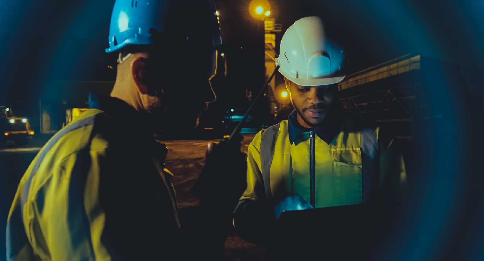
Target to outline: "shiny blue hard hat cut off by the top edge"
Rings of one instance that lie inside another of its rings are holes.
[[[173,43],[174,37],[189,41],[194,32],[206,34],[212,47],[222,44],[213,0],[116,0],[106,52],[126,46]]]

